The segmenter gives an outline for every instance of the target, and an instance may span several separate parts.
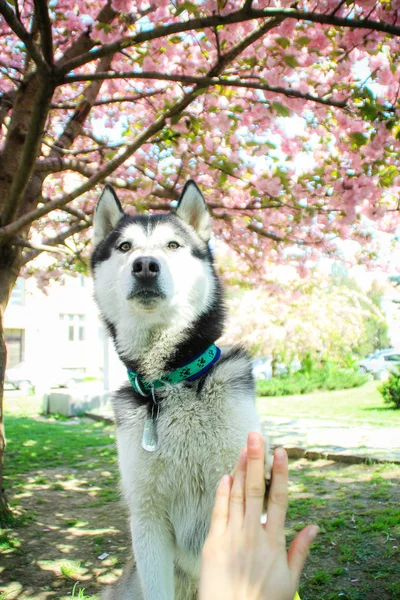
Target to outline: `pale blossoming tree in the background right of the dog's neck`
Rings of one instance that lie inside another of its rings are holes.
[[[223,343],[243,343],[254,356],[286,364],[306,356],[346,363],[370,341],[371,326],[384,330],[386,324],[367,294],[346,285],[333,287],[323,277],[276,285],[269,292],[241,291],[229,299],[228,308]]]

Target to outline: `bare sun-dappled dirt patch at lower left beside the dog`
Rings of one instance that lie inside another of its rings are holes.
[[[86,597],[114,581],[129,552],[127,513],[117,495],[116,473],[106,468],[42,469],[27,477],[12,502],[29,523],[3,540],[5,598],[71,597],[77,582],[74,596],[84,588]]]

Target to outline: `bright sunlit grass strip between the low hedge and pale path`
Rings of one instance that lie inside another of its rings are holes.
[[[265,417],[310,417],[335,419],[341,423],[400,426],[400,410],[384,404],[377,382],[336,392],[316,392],[298,396],[258,398],[260,415]]]

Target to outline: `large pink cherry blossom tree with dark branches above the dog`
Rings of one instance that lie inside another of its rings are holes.
[[[0,331],[32,259],[79,268],[104,181],[132,211],[169,210],[195,177],[217,234],[259,273],[288,246],[304,262],[338,237],[367,244],[371,221],[391,231],[399,9],[0,0]],[[1,335],[0,399],[5,358]]]

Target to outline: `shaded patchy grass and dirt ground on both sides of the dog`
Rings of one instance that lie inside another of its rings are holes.
[[[0,533],[0,598],[97,598],[130,546],[113,430],[37,411],[34,398],[6,401],[6,483],[17,519]],[[321,527],[302,600],[400,599],[400,467],[302,459],[290,469],[289,538],[306,523]]]

